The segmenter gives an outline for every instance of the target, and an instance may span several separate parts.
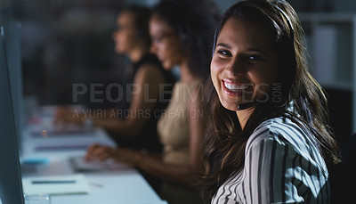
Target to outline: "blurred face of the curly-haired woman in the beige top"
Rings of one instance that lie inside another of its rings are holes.
[[[165,69],[181,64],[184,58],[182,43],[175,29],[158,14],[150,18],[150,52],[155,53]]]

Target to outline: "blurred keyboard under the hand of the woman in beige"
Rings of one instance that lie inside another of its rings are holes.
[[[72,157],[69,159],[70,164],[76,172],[90,172],[90,171],[112,171],[112,170],[125,170],[132,169],[131,166],[128,166],[124,163],[117,163],[113,160],[105,161],[90,161],[85,162],[83,156]]]

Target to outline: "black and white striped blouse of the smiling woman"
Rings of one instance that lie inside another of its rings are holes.
[[[220,186],[211,203],[329,203],[328,169],[299,126],[271,118],[250,136],[245,166]]]

